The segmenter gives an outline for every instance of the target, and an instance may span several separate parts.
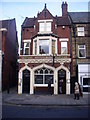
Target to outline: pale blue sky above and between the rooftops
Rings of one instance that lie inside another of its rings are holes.
[[[0,20],[16,19],[20,47],[21,25],[25,17],[37,16],[38,11],[43,10],[45,3],[53,16],[61,16],[62,1],[68,3],[68,12],[88,12],[90,8],[89,0],[0,0]]]

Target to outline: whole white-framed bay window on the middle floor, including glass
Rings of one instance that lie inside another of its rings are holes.
[[[33,41],[34,55],[57,54],[57,38],[51,36],[36,37]]]

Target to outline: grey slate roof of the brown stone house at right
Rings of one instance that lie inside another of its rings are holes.
[[[90,12],[68,12],[73,23],[88,23]]]

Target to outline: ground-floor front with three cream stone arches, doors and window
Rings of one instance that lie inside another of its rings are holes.
[[[38,88],[46,90],[49,81],[53,94],[60,94],[60,80],[63,81],[62,94],[70,94],[70,71],[64,65],[57,68],[47,64],[41,64],[33,68],[25,65],[19,70],[18,94],[35,94]]]

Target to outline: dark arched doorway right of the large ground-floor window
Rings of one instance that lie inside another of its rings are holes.
[[[66,71],[58,71],[58,94],[66,94]]]

